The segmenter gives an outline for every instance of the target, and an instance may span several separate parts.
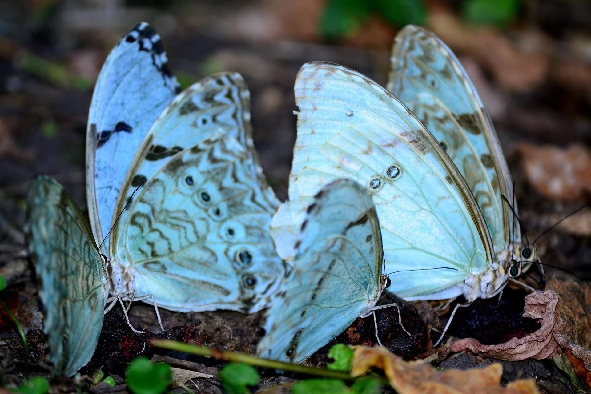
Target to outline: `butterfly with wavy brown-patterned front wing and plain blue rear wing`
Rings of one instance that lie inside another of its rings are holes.
[[[284,266],[268,232],[278,201],[252,143],[248,89],[237,73],[177,89],[145,23],[124,35],[96,84],[87,199],[96,242],[108,245],[110,291],[174,311],[258,311]]]

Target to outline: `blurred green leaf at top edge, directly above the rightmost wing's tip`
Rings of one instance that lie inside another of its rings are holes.
[[[423,25],[427,18],[427,9],[422,0],[372,0],[370,4],[372,11],[397,27]]]

